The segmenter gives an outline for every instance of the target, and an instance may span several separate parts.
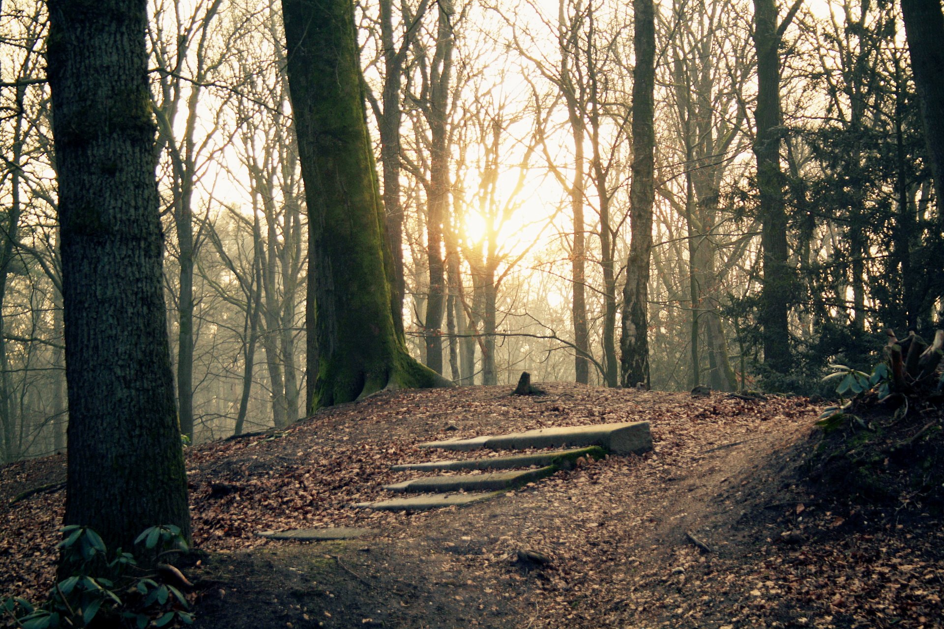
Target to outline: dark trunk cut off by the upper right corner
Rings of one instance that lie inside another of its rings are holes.
[[[924,122],[937,207],[944,207],[944,14],[940,0],[902,0],[911,70]]]

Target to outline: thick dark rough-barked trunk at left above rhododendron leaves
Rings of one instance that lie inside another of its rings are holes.
[[[49,0],[69,391],[64,523],[190,537],[161,285],[146,0]]]

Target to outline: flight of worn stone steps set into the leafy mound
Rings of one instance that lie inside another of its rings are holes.
[[[485,473],[423,476],[384,489],[407,495],[403,498],[358,503],[358,508],[383,511],[420,511],[450,505],[469,505],[488,500],[562,469],[569,469],[580,457],[642,454],[652,449],[649,422],[603,423],[589,426],[539,428],[509,435],[486,435],[474,439],[447,439],[420,443],[420,448],[451,451],[527,450],[560,448],[526,455],[484,456],[480,458],[395,465],[395,471],[475,470]]]

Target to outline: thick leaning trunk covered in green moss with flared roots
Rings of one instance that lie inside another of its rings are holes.
[[[363,108],[354,6],[282,0],[309,211],[309,412],[380,389],[446,386],[409,356]]]

